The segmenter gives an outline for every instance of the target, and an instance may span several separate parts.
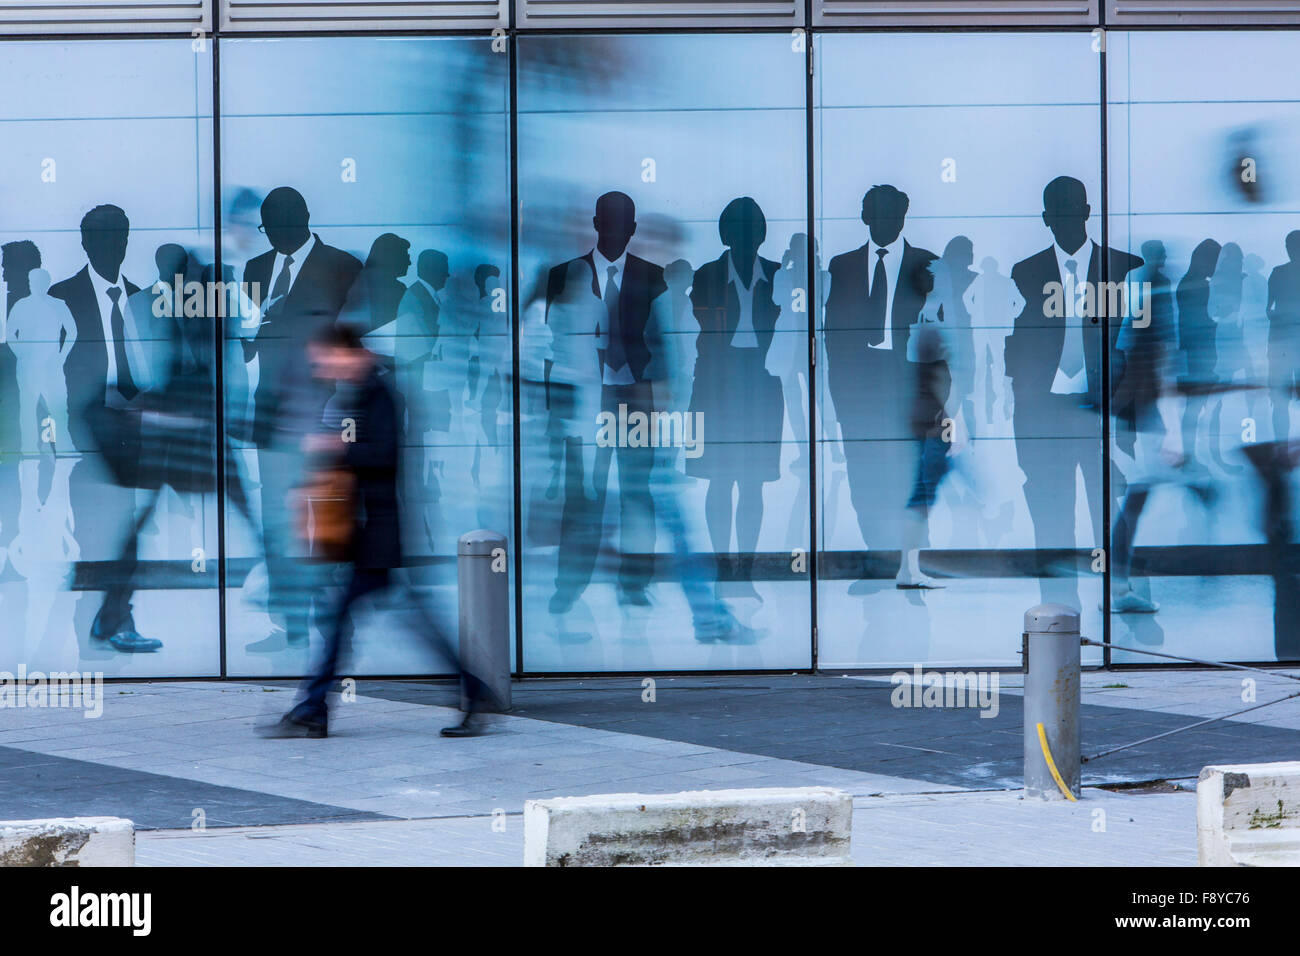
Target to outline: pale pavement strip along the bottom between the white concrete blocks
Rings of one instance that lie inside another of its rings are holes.
[[[517,866],[519,814],[142,831],[140,866]],[[1078,804],[1017,793],[854,800],[859,866],[1195,866],[1192,792],[1086,790]]]

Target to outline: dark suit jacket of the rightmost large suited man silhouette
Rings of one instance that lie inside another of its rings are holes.
[[[1091,242],[1091,241],[1089,241]],[[1110,261],[1110,282],[1123,282],[1124,277],[1141,265],[1141,259],[1117,248],[1108,248]],[[1052,284],[1062,281],[1057,264],[1056,247],[1048,246],[1028,259],[1011,267],[1011,281],[1024,299],[1024,308],[1015,319],[1015,328],[1006,338],[1006,375],[1017,395],[1017,408],[1032,412],[1034,399],[1052,392],[1061,362],[1061,349],[1065,345],[1065,316],[1046,315],[1046,302],[1052,295]],[[1092,243],[1092,256],[1088,264],[1088,280],[1093,289],[1101,282],[1101,247]],[[1096,299],[1105,299],[1104,294]],[[1096,312],[1102,303],[1097,302]],[[1112,345],[1119,333],[1122,316],[1112,316]],[[1083,355],[1088,371],[1087,403],[1101,405],[1101,319],[1084,317]],[[1089,332],[1092,329],[1092,332]],[[1027,402],[1022,403],[1022,402]],[[1019,437],[1019,436],[1018,436]]]

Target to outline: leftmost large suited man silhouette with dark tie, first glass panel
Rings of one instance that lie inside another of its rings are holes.
[[[136,562],[136,505],[134,483],[125,475],[139,447],[134,419],[124,414],[140,394],[146,372],[139,350],[140,329],[129,308],[139,286],[121,273],[131,224],[117,206],[96,206],[81,222],[87,264],[72,278],[49,287],[73,313],[77,341],[68,351],[69,432],[83,457],[73,468],[69,490],[82,555],[103,549],[120,535],[124,512],[130,531],[113,567],[114,581],[130,581]],[[104,473],[104,464],[113,473]],[[114,488],[113,485],[120,488]],[[94,641],[124,652],[157,650],[162,643],[135,630],[129,587],[109,588],[91,624]]]

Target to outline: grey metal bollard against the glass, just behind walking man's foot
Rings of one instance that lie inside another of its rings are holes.
[[[460,602],[460,667],[482,680],[495,706],[510,709],[510,571],[506,537],[471,531],[456,546]],[[460,709],[468,710],[464,687]]]

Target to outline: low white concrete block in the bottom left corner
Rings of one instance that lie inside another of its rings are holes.
[[[121,817],[0,821],[0,866],[134,866],[135,825]]]

